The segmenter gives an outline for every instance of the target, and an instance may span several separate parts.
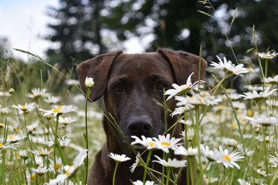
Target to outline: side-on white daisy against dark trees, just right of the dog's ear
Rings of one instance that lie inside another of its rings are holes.
[[[243,73],[248,73],[247,69],[243,67],[243,64],[238,64],[237,66],[233,64],[230,60],[227,61],[227,58],[223,58],[224,62],[216,55],[219,60],[219,63],[211,62],[211,66],[214,69],[224,70],[228,74],[234,74],[242,76]]]

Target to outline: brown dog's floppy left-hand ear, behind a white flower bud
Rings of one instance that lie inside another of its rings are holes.
[[[117,56],[121,53],[122,51],[98,55],[95,58],[82,62],[76,67],[81,89],[83,92],[85,92],[85,94],[87,93],[87,88],[85,87],[85,78],[88,76],[93,78],[95,82],[95,85],[92,87],[92,92],[90,94],[90,99],[92,101],[98,100],[104,94],[108,82],[108,73],[111,64],[113,63],[113,60],[115,60],[115,58],[117,58]]]

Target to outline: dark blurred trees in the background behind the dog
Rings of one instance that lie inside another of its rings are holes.
[[[123,43],[140,39],[145,51],[161,47],[188,51],[208,62],[215,55],[235,62],[254,46],[252,26],[256,28],[260,51],[278,50],[277,0],[211,0],[213,8],[200,1],[185,0],[60,0],[47,15],[56,19],[48,24],[52,32],[44,35],[58,47],[47,49],[47,61],[70,71],[83,60],[101,53],[126,49]],[[234,10],[236,20],[230,26]],[[208,17],[197,10],[208,12]],[[225,37],[229,37],[229,41]],[[8,40],[0,39],[0,55],[7,58]],[[255,53],[247,54],[255,58]],[[277,60],[269,65],[270,74],[278,70]]]

